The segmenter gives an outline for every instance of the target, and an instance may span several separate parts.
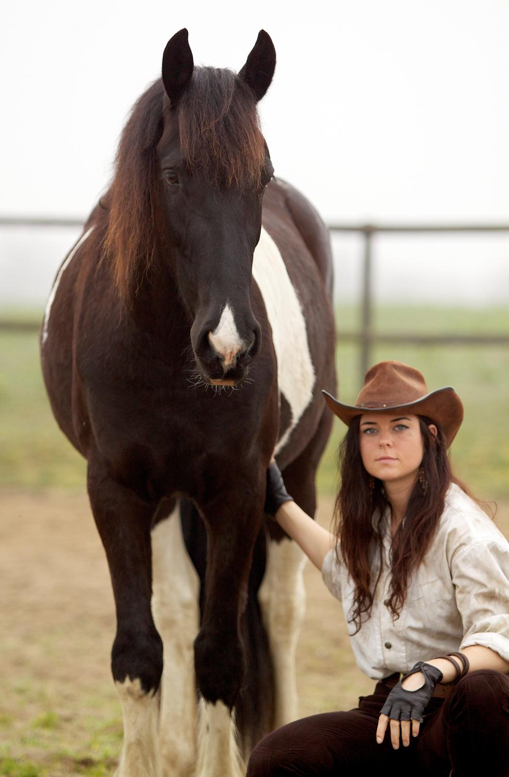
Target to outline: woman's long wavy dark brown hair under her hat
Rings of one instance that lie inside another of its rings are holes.
[[[406,507],[406,518],[392,539],[391,587],[388,607],[394,618],[399,617],[406,598],[409,577],[424,559],[434,537],[445,506],[445,494],[451,483],[457,483],[472,496],[465,484],[451,472],[448,451],[442,430],[435,437],[427,416],[418,416],[423,439],[424,455],[421,463],[423,488],[417,479]],[[340,540],[338,557],[346,564],[354,582],[355,593],[351,621],[355,632],[369,615],[375,589],[382,571],[381,523],[390,504],[385,496],[382,480],[371,478],[361,458],[359,427],[361,416],[356,416],[340,445],[341,486],[334,511],[334,532]],[[378,565],[374,564],[378,552]],[[373,569],[378,566],[378,576]],[[375,577],[375,579],[374,579]]]

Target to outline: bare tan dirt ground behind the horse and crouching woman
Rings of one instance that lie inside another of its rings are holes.
[[[322,500],[323,524],[331,509]],[[497,523],[509,528],[509,503],[499,506]],[[305,583],[300,713],[348,709],[373,683],[355,667],[340,605],[310,563]],[[110,577],[85,495],[0,493],[0,774],[113,771],[122,734],[109,666],[114,629]],[[32,766],[23,771],[23,763]]]

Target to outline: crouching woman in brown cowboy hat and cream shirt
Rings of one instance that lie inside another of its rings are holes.
[[[451,475],[462,402],[394,361],[368,371],[355,406],[324,394],[349,427],[336,531],[291,500],[275,463],[266,510],[322,570],[378,682],[357,709],[270,733],[248,777],[507,777],[509,543]]]

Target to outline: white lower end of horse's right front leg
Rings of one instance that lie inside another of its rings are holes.
[[[224,702],[200,699],[197,777],[243,777],[235,720]]]

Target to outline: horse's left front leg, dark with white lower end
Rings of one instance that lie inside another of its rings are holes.
[[[92,512],[110,566],[117,608],[111,669],[124,714],[117,777],[161,777],[158,741],[162,641],[151,611],[150,527],[155,505],[89,462]]]

